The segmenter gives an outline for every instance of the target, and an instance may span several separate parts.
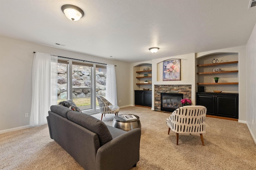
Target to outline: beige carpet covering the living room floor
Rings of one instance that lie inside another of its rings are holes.
[[[200,135],[170,132],[165,119],[170,113],[144,107],[126,107],[119,114],[136,114],[142,124],[140,161],[132,170],[256,170],[256,145],[246,124],[206,117],[202,146]],[[100,118],[100,114],[94,117]],[[103,121],[112,125],[114,115]],[[54,140],[48,125],[0,134],[0,169],[82,170]]]

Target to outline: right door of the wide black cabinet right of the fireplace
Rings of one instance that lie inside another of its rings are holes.
[[[238,95],[216,96],[216,116],[238,119]]]

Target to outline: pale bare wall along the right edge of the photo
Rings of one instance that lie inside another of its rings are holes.
[[[246,121],[256,143],[256,24],[246,45]]]

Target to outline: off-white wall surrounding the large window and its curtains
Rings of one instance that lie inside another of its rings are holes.
[[[130,63],[0,37],[0,133],[7,129],[19,129],[29,125],[30,118],[25,118],[24,113],[29,113],[30,116],[34,51],[117,65],[118,105],[121,107],[130,105]]]

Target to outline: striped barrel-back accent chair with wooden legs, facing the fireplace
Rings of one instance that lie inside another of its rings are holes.
[[[204,106],[180,107],[166,119],[166,124],[169,126],[168,135],[172,129],[176,133],[176,144],[178,145],[179,133],[199,133],[204,146],[205,117],[206,107]]]

